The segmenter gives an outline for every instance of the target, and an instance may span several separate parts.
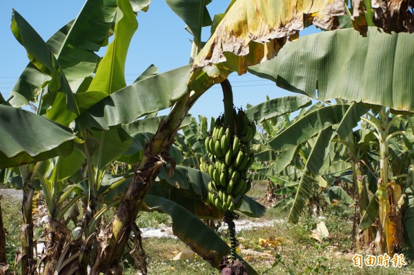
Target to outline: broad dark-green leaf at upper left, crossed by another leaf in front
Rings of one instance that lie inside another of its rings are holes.
[[[108,43],[116,10],[115,0],[88,0],[77,19],[48,40],[48,46],[55,54],[72,90],[77,90],[83,79],[94,72],[99,61],[95,52]],[[10,94],[10,103],[16,107],[26,105],[28,101],[36,101],[41,84],[49,79],[31,64],[23,70]]]

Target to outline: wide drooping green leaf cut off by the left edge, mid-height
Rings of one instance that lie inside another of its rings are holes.
[[[69,128],[17,108],[0,105],[0,168],[43,161],[73,150]]]

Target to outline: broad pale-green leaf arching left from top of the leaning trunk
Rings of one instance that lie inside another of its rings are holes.
[[[107,130],[168,108],[188,92],[189,73],[190,66],[186,65],[133,83],[83,112],[78,118],[78,126]]]

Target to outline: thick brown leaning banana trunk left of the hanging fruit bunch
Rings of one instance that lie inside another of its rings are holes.
[[[155,136],[146,146],[144,158],[135,170],[133,179],[119,204],[117,214],[112,220],[112,227],[107,230],[103,239],[99,240],[105,245],[101,245],[90,274],[95,275],[99,272],[121,274],[122,269],[119,263],[121,263],[121,257],[128,243],[132,224],[135,223],[135,218],[144,203],[144,197],[152,182],[157,178],[159,169],[170,161],[168,150],[174,143],[175,134],[177,134],[188,110],[199,96],[201,94],[194,98],[188,95],[179,100],[166,121],[161,121]],[[141,270],[141,272],[146,274],[145,270]]]

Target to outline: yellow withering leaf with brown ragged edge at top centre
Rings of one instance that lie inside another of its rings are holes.
[[[238,0],[195,59],[193,70],[218,64],[242,74],[247,66],[276,56],[287,37],[312,23],[335,29],[344,1]],[[197,75],[197,74],[194,74]]]

